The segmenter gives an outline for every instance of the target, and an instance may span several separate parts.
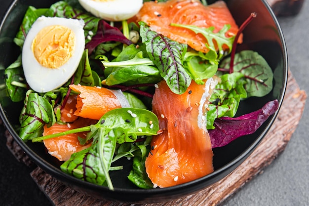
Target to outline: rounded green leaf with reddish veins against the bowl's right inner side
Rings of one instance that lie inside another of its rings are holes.
[[[231,58],[223,60],[220,67],[228,69],[230,62]],[[244,75],[248,98],[265,96],[272,89],[272,70],[267,61],[255,51],[244,50],[235,54],[233,71]]]

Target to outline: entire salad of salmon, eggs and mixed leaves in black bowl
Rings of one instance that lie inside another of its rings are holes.
[[[24,102],[20,138],[111,190],[122,158],[144,189],[213,172],[213,148],[254,133],[278,109],[273,100],[235,117],[240,101],[272,90],[266,60],[236,53],[255,17],[238,27],[220,0],[29,6],[14,39],[21,54],[5,70],[9,97]]]

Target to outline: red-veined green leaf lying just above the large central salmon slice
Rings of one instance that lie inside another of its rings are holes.
[[[187,44],[172,41],[151,31],[145,23],[140,23],[140,36],[146,44],[149,58],[157,66],[161,77],[176,94],[184,93],[192,79],[183,66]]]

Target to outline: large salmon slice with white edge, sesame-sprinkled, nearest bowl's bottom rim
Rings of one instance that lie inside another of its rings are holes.
[[[153,137],[145,162],[154,187],[186,183],[213,172],[205,113],[216,84],[213,78],[204,84],[192,82],[188,90],[179,95],[173,93],[165,81],[158,83],[152,105],[162,133]]]

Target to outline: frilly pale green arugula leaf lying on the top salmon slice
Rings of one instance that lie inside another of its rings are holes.
[[[217,33],[214,33],[215,27],[200,28],[194,25],[174,23],[172,23],[171,26],[190,29],[195,32],[195,34],[202,34],[207,40],[206,47],[209,49],[207,53],[210,52],[212,57],[216,57],[209,59],[210,61],[216,61],[216,59],[221,59],[223,57],[223,55],[225,54],[225,50],[223,49],[224,45],[228,46],[228,53],[232,51],[232,45],[235,36],[229,38],[225,36],[225,34],[231,29],[230,24],[225,24],[224,27]],[[216,44],[214,43],[214,41],[216,42]]]

